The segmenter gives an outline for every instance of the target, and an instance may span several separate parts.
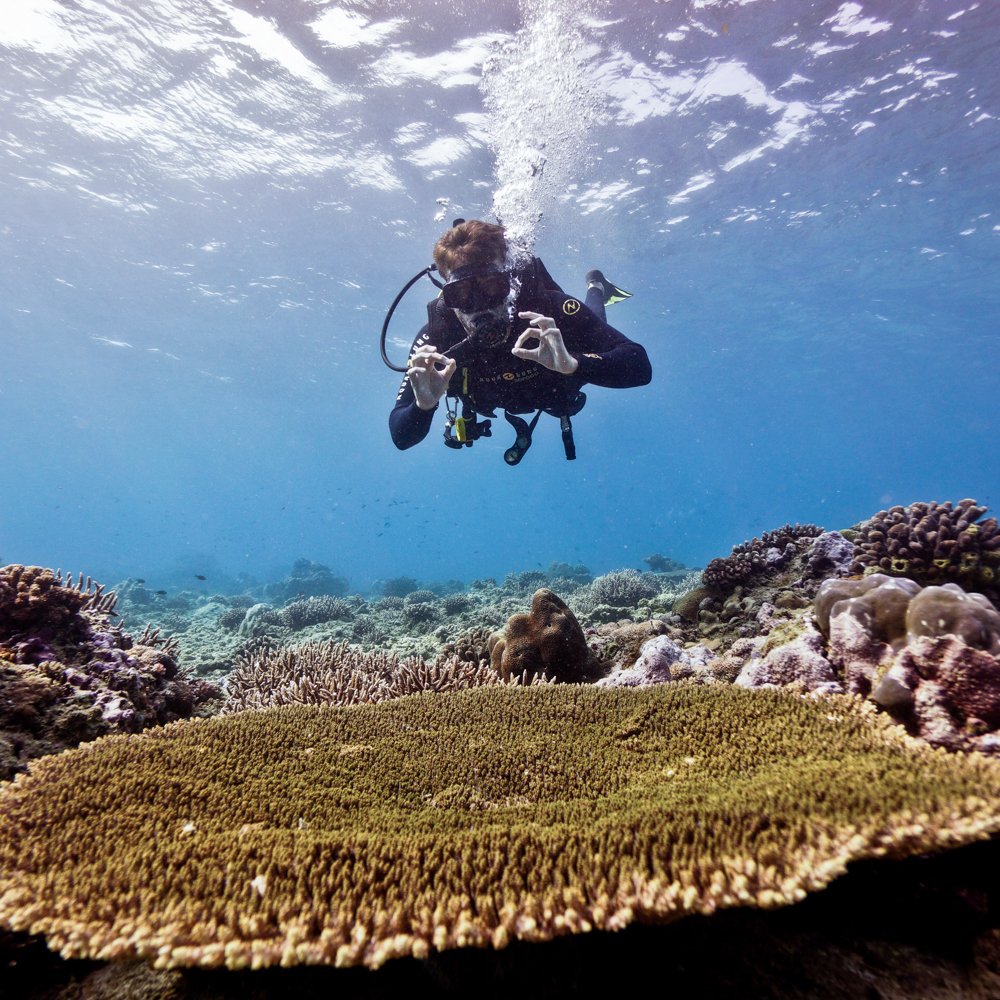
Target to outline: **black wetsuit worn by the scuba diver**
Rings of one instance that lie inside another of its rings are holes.
[[[448,354],[456,359],[458,367],[447,395],[458,396],[467,409],[484,416],[495,416],[493,411],[498,408],[509,413],[545,409],[559,415],[559,410],[570,407],[580,387],[588,382],[609,389],[631,389],[649,383],[653,376],[645,349],[595,315],[598,307],[604,311],[599,294],[592,311],[579,299],[560,291],[541,261],[534,261],[521,280],[507,339],[489,350],[465,346]],[[465,329],[442,299],[431,302],[427,312],[428,322],[417,334],[411,355],[424,344],[433,344],[443,354],[465,340]],[[541,313],[555,320],[567,351],[579,362],[572,375],[550,371],[537,361],[526,361],[510,353],[529,325],[528,320],[518,317],[519,312]],[[434,410],[421,410],[417,406],[406,376],[389,414],[389,430],[396,447],[412,448],[422,441],[430,430]]]

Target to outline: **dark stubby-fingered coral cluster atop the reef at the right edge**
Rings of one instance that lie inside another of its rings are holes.
[[[921,583],[957,581],[966,589],[996,588],[1000,578],[997,519],[979,518],[975,500],[912,503],[880,510],[854,540],[855,573],[872,569]]]

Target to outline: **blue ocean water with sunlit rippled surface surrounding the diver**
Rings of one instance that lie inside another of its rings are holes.
[[[965,0],[5,5],[0,564],[364,590],[995,500],[998,52]],[[575,462],[389,438],[385,309],[496,212],[634,293]]]

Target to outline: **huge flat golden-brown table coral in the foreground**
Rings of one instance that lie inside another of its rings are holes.
[[[0,925],[64,957],[376,967],[820,889],[1000,829],[1000,765],[848,698],[483,688],[287,707],[0,789]]]

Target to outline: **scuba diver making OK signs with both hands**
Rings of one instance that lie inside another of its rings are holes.
[[[588,271],[585,303],[552,280],[536,257],[508,263],[502,226],[456,219],[434,247],[435,279],[441,294],[427,307],[427,324],[413,342],[406,369],[385,355],[385,332],[400,292],[382,328],[382,356],[406,377],[389,415],[393,443],[403,450],[426,437],[442,397],[448,418],[445,444],[471,447],[491,437],[497,408],[516,432],[504,453],[517,465],[531,446],[541,414],[558,417],[566,458],[576,457],[570,418],[583,408],[580,391],[590,382],[611,389],[647,385],[652,369],[646,351],[605,322],[605,306],[629,293],[600,271]],[[413,283],[410,282],[410,284]],[[454,402],[450,402],[454,400]],[[461,404],[461,416],[459,416]],[[518,414],[535,413],[529,423]]]

